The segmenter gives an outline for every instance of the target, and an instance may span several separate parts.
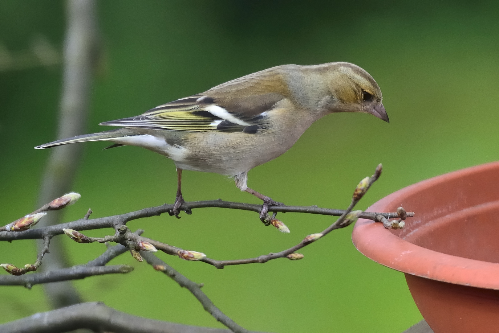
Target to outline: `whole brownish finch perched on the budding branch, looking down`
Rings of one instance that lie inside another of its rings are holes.
[[[278,65],[180,98],[145,113],[99,125],[119,126],[35,147],[110,141],[104,148],[139,146],[171,158],[177,168],[177,195],[170,215],[185,202],[182,170],[234,178],[241,191],[268,208],[281,203],[248,187],[248,171],[286,152],[316,120],[336,112],[370,113],[390,122],[381,89],[372,76],[349,62]],[[184,209],[186,213],[189,210]]]

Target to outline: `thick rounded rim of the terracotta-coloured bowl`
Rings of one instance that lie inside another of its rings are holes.
[[[499,170],[499,161],[407,186],[379,200],[366,211],[385,212],[393,201],[400,202],[401,198],[415,191],[489,169]],[[499,290],[499,264],[452,256],[414,245],[392,234],[381,223],[359,219],[353,228],[352,241],[364,256],[394,270],[442,282]]]

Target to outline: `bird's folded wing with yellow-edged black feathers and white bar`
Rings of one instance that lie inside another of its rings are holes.
[[[139,116],[106,121],[100,125],[168,129],[256,133],[259,122],[280,94],[250,95],[238,99],[197,94],[157,106]]]

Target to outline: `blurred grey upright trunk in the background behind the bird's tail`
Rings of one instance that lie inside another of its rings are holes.
[[[66,12],[58,138],[78,135],[84,131],[89,109],[92,76],[99,51],[95,0],[68,0]],[[33,51],[45,54],[46,51],[40,50],[45,50],[46,47],[40,45],[42,44],[34,47]],[[69,192],[81,151],[82,146],[78,144],[58,147],[52,151],[42,176],[39,203],[46,203],[52,198]],[[60,223],[60,211],[48,213],[47,218],[40,223],[42,227]],[[42,251],[42,242],[38,242],[38,249],[39,252]],[[68,266],[60,239],[52,241],[50,250],[43,265],[45,271]],[[78,293],[70,282],[46,284],[44,288],[49,302],[54,308],[81,302]]]

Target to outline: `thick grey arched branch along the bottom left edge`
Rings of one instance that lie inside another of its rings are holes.
[[[132,316],[101,302],[76,304],[0,325],[2,333],[63,333],[76,329],[119,333],[230,333]]]

